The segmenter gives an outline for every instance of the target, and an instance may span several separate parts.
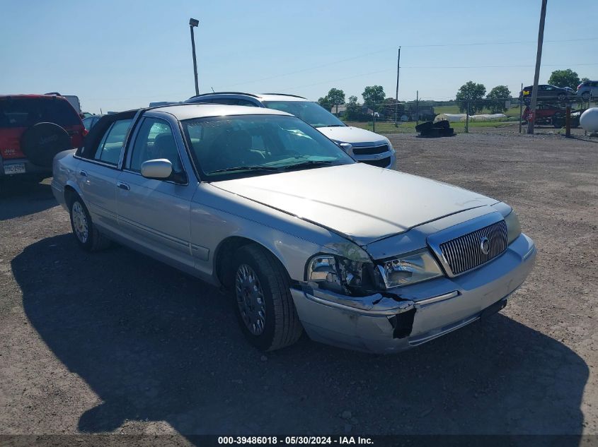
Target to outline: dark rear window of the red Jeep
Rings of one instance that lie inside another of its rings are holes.
[[[38,123],[62,127],[81,124],[67,100],[57,97],[8,97],[0,100],[0,127],[30,127]]]

